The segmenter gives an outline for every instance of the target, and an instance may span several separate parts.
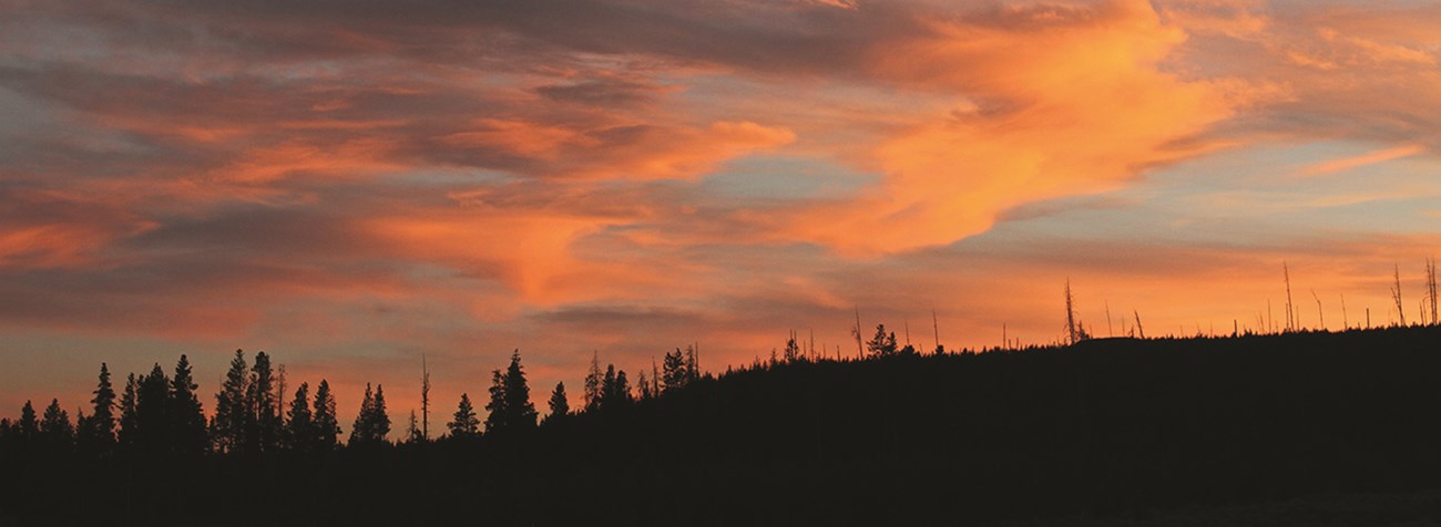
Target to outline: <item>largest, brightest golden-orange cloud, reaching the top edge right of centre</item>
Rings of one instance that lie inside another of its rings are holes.
[[[983,232],[1022,203],[1107,192],[1205,151],[1183,141],[1231,117],[1244,88],[1166,72],[1185,33],[1147,1],[1007,7],[989,22],[937,22],[942,37],[875,55],[883,75],[953,91],[958,109],[876,148],[886,180],[801,215],[798,236],[905,251]]]

